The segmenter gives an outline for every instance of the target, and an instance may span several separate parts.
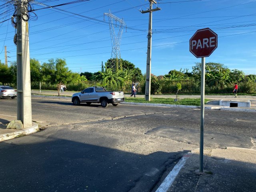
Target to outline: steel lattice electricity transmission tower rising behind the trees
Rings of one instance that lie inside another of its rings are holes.
[[[123,28],[125,26],[123,18],[120,19],[114,16],[110,10],[108,13],[104,13],[104,16],[108,16],[108,23],[110,28],[111,43],[112,43],[112,53],[111,53],[111,63],[110,68],[114,71],[122,70],[122,62],[120,55],[120,43],[123,33]],[[118,33],[116,34],[115,29],[118,28]]]

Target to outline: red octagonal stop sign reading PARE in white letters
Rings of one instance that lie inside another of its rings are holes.
[[[196,56],[208,57],[218,46],[218,35],[210,28],[199,29],[189,40],[189,50]]]

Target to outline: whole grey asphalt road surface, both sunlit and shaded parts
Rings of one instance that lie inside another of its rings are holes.
[[[0,100],[16,115],[16,100]],[[254,148],[256,113],[205,111],[205,148]],[[149,192],[199,148],[200,110],[32,99],[41,131],[0,143],[0,191]]]

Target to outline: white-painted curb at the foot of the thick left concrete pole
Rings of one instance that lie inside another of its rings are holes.
[[[10,140],[10,139],[14,139],[16,136],[18,135],[28,135],[28,134],[32,134],[32,133],[35,133],[35,132],[38,132],[39,129],[38,129],[38,124],[35,123],[35,122],[32,122],[32,126],[31,127],[28,127],[28,128],[24,128],[24,129],[21,129],[21,130],[17,130],[13,133],[8,133],[8,134],[2,134],[0,135],[0,142],[1,141],[6,141],[6,140]]]

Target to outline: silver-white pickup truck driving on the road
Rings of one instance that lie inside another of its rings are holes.
[[[124,92],[107,91],[104,87],[88,87],[79,93],[72,95],[74,105],[84,102],[88,105],[91,103],[100,103],[102,107],[107,107],[109,103],[117,106],[124,101]]]

